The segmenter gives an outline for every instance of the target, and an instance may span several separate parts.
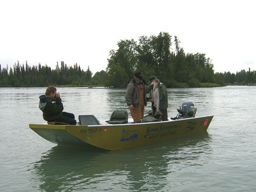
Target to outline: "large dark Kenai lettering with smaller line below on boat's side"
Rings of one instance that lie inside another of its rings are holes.
[[[160,127],[147,127],[146,134],[144,138],[153,139],[156,137],[164,137],[167,135],[173,135],[177,130],[181,129],[181,125],[173,125],[173,126],[160,126]]]

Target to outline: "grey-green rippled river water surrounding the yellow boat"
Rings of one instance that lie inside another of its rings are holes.
[[[0,88],[0,191],[256,191],[256,87],[168,89],[168,117],[186,100],[215,115],[207,134],[119,151],[59,147],[30,130],[45,123],[45,89]],[[129,111],[124,89],[57,91],[76,118]]]

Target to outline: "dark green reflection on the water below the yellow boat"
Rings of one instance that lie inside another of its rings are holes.
[[[117,151],[55,146],[29,171],[42,191],[170,190],[181,172],[208,164],[210,142],[203,132]]]

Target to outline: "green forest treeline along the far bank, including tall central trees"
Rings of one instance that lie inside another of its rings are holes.
[[[156,75],[168,88],[216,87],[226,84],[255,84],[256,72],[241,70],[215,73],[214,65],[203,53],[185,53],[177,36],[166,32],[140,36],[138,41],[125,39],[117,42],[118,49],[110,51],[108,67],[92,76],[75,63],[67,66],[56,63],[55,69],[40,63],[29,66],[14,63],[2,68],[0,87],[47,87],[55,86],[104,86],[126,88],[135,71],[142,72],[145,80]],[[174,50],[173,48],[174,47]]]

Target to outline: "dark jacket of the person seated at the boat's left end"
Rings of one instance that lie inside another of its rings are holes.
[[[62,115],[63,104],[60,97],[39,97],[39,109],[42,111],[42,117],[46,121],[55,121]]]

